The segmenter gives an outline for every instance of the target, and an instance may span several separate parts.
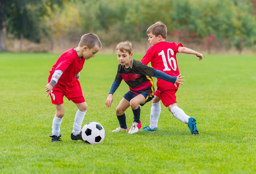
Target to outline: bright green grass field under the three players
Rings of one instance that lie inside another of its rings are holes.
[[[96,121],[106,137],[100,144],[70,139],[77,108],[64,98],[63,142],[50,143],[55,108],[46,98],[49,70],[59,55],[0,53],[0,173],[249,174],[256,173],[255,55],[177,54],[185,76],[178,106],[195,117],[198,136],[162,105],[156,132],[112,133],[115,108],[128,91],[124,82],[105,101],[117,71],[116,55],[86,60],[80,83],[88,103],[83,125]],[[133,58],[140,60],[143,55]],[[154,78],[155,79],[155,78]],[[155,79],[156,83],[156,79]],[[151,103],[141,107],[142,127]],[[128,127],[132,111],[126,111]]]

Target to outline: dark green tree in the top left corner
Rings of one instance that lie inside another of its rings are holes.
[[[21,40],[20,50],[23,38],[40,42],[40,17],[48,15],[48,7],[52,8],[54,4],[61,5],[63,2],[64,0],[0,0],[0,51],[6,49],[6,32]]]

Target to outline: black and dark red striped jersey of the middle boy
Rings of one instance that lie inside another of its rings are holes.
[[[122,79],[129,85],[130,91],[135,94],[147,92],[154,95],[154,83],[152,76],[155,69],[148,67],[138,60],[131,59],[131,66],[125,68],[121,64],[118,65],[115,81],[121,83]]]

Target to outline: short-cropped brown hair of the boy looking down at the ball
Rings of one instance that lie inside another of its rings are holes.
[[[87,46],[88,49],[92,49],[95,45],[98,45],[98,47],[101,49],[100,39],[96,34],[93,33],[84,34],[81,37],[81,40],[78,45],[80,47]]]

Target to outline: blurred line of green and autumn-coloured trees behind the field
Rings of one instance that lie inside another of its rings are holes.
[[[96,33],[106,45],[145,38],[157,21],[169,36],[255,46],[254,0],[0,0],[0,51],[6,35],[40,43]],[[78,40],[79,40],[78,39]],[[77,39],[76,39],[77,40]],[[188,40],[189,42],[189,40]],[[52,46],[53,47],[53,46]]]

